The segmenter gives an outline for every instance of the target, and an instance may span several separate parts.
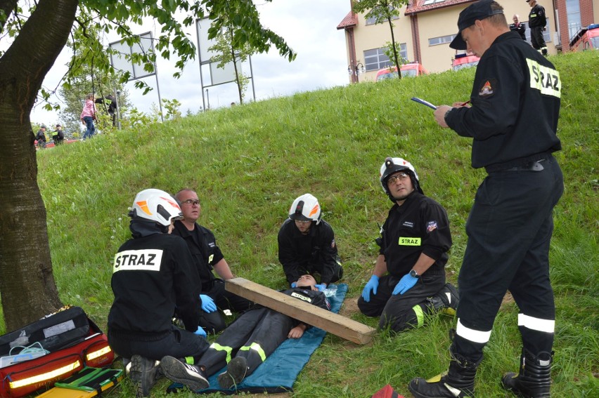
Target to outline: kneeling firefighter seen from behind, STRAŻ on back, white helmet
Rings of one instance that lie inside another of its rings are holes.
[[[198,329],[202,304],[198,272],[185,241],[169,234],[174,220],[183,217],[181,208],[167,192],[150,189],[137,194],[129,215],[133,239],[122,244],[115,256],[108,342],[115,352],[131,359],[129,376],[136,383],[137,397],[148,397],[160,375],[162,357],[194,361],[208,343]],[[175,309],[186,329],[173,326]],[[196,374],[195,379],[181,378],[179,373],[169,376],[196,389],[207,383]]]

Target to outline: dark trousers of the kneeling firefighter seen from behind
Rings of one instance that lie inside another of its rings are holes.
[[[198,360],[208,349],[205,338],[176,326],[173,326],[170,333],[155,338],[147,335],[136,337],[133,334],[124,336],[109,330],[108,343],[121,357],[131,359],[134,354],[139,354],[155,361],[160,361],[166,355],[178,359],[193,357],[194,360]]]

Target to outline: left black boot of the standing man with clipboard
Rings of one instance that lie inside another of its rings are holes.
[[[480,361],[468,361],[449,347],[451,361],[449,371],[429,380],[413,378],[408,385],[416,398],[465,398],[474,397],[474,379]]]

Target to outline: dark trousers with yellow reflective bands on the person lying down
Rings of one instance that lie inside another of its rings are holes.
[[[196,364],[205,366],[207,375],[212,376],[233,357],[245,357],[249,376],[287,340],[294,323],[292,318],[269,308],[247,311],[223,331]]]

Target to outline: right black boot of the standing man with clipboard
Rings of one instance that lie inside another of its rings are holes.
[[[520,373],[505,373],[501,384],[505,390],[514,392],[520,397],[548,398],[551,386],[551,362],[553,352],[542,351],[534,356],[522,349],[520,356]]]

